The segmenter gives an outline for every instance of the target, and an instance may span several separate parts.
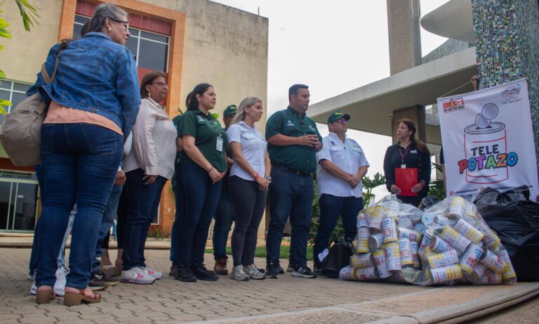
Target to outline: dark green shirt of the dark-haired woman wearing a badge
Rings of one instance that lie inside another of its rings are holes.
[[[227,148],[227,132],[222,129],[219,121],[211,114],[207,116],[199,109],[190,110],[183,114],[178,123],[178,136],[189,135],[194,137],[194,145],[211,165],[218,171],[227,171],[225,160]],[[222,150],[217,150],[217,138],[222,138]],[[194,163],[185,153],[180,153],[180,163]]]

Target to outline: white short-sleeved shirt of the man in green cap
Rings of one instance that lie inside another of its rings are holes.
[[[361,146],[352,138],[345,137],[345,143],[335,133],[329,133],[322,140],[324,146],[317,153],[317,162],[328,160],[340,167],[348,174],[355,174],[360,167],[369,164]],[[317,167],[317,188],[318,197],[324,193],[338,197],[362,197],[361,182],[356,188],[352,188],[350,183],[330,174],[320,164]]]

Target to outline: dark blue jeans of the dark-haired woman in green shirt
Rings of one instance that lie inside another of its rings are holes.
[[[197,268],[204,263],[208,228],[217,208],[222,183],[211,183],[208,173],[192,163],[179,164],[176,176],[182,202],[178,265]]]

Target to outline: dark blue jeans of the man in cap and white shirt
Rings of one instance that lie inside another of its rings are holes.
[[[356,236],[356,217],[363,209],[363,197],[338,197],[324,193],[318,200],[320,206],[320,225],[317,238],[314,239],[313,259],[318,260],[318,254],[329,246],[331,232],[342,217],[342,227],[345,229],[345,238],[354,239]]]

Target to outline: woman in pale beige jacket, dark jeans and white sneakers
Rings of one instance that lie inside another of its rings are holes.
[[[176,129],[159,103],[168,91],[166,74],[149,72],[140,84],[140,111],[133,127],[133,146],[124,158],[128,214],[124,230],[121,282],[150,284],[162,273],[145,264],[149,226],[157,215],[161,191],[174,173]]]

